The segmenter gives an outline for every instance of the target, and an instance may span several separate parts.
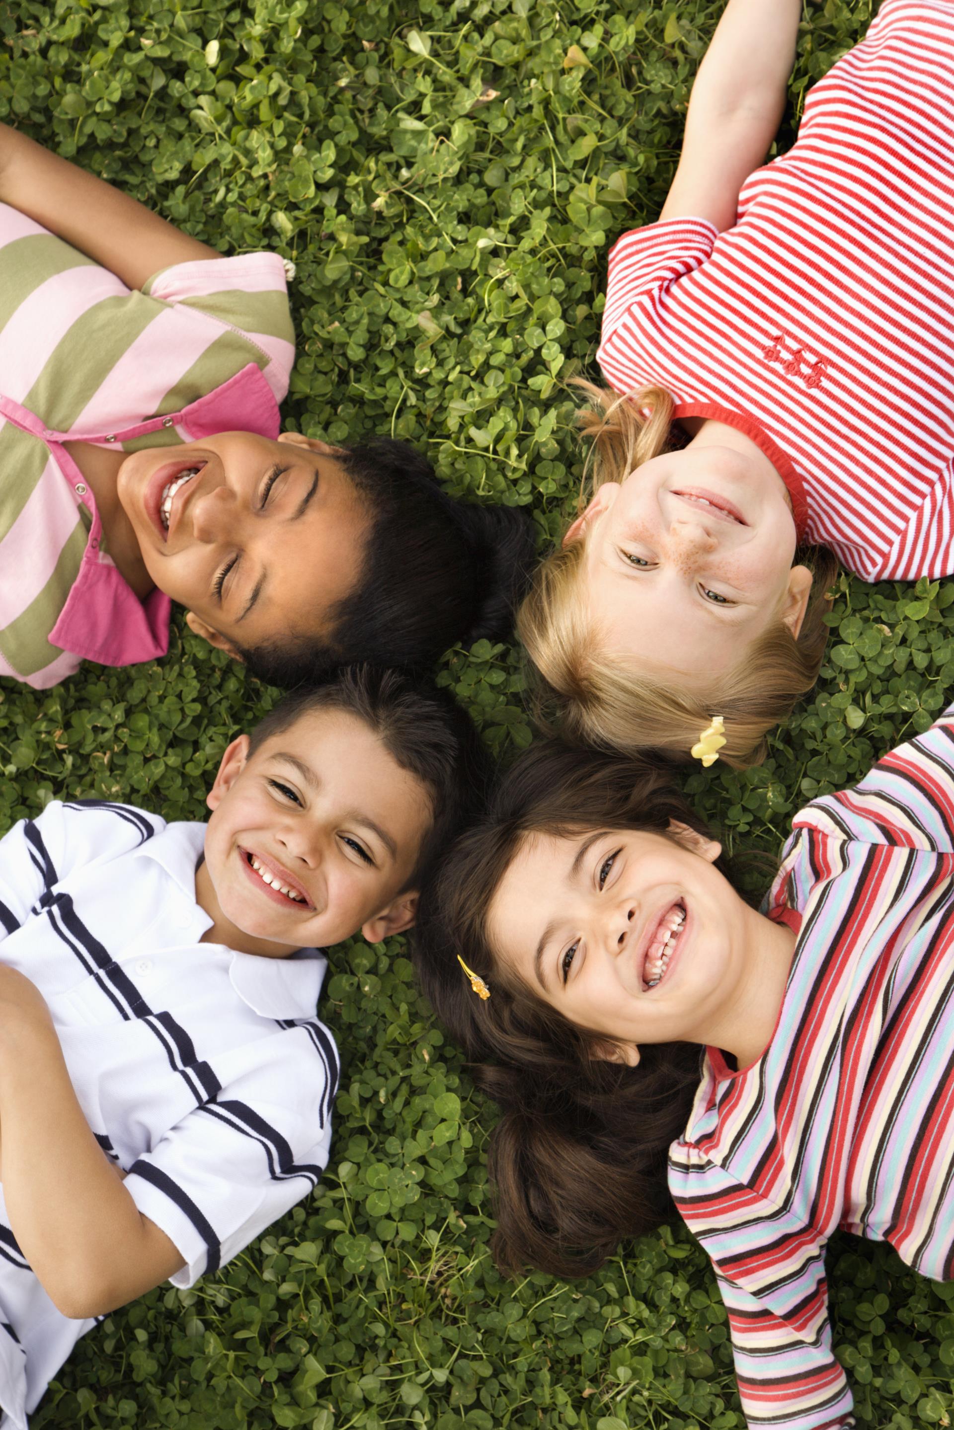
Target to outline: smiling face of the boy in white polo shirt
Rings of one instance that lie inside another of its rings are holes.
[[[207,804],[196,892],[216,941],[282,957],[413,922],[431,801],[358,716],[310,711],[253,754],[242,735]]]

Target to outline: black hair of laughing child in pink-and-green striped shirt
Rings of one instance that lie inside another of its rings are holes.
[[[289,688],[346,661],[422,669],[456,642],[505,639],[533,561],[529,513],[448,496],[406,442],[373,438],[336,460],[370,511],[362,575],[323,636],[240,649],[252,674]]]

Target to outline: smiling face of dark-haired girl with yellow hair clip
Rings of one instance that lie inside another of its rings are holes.
[[[495,957],[571,1022],[631,1048],[712,1041],[767,922],[712,867],[718,854],[684,825],[529,835],[491,904]]]

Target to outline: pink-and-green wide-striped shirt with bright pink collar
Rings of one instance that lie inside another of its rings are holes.
[[[0,204],[0,675],[163,655],[170,602],[116,569],[64,442],[136,452],[275,438],[295,332],[275,253],[179,263],[130,292]]]

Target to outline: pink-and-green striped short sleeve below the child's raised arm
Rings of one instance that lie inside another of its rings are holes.
[[[295,326],[285,260],[277,253],[195,259],[162,269],[143,285],[162,303],[205,313],[266,355],[265,376],[282,402],[295,363]]]

